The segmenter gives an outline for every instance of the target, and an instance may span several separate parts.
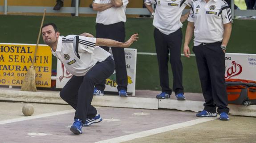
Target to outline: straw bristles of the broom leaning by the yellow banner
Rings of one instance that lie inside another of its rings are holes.
[[[33,65],[28,69],[28,73],[23,79],[23,84],[21,86],[22,91],[37,91],[36,87],[36,71]]]

